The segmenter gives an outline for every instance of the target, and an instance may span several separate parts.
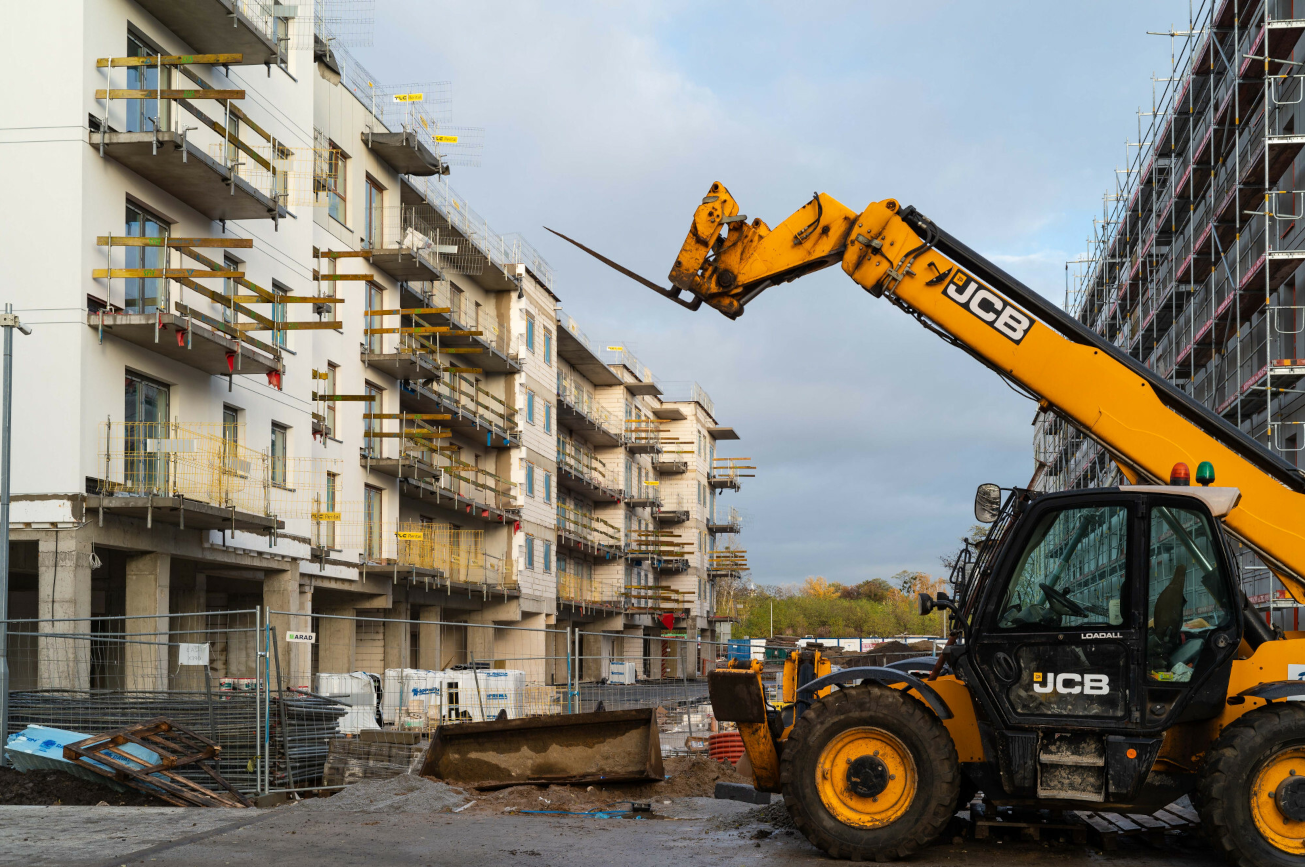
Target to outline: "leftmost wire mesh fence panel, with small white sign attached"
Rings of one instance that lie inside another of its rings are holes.
[[[87,736],[166,717],[214,740],[218,772],[258,790],[258,614],[9,620],[9,726]],[[213,787],[198,768],[181,772]]]

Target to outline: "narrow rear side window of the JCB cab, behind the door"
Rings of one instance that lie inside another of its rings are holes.
[[[1228,580],[1210,518],[1193,509],[1154,507],[1147,577],[1147,674],[1185,683],[1203,661],[1210,636],[1232,624]]]

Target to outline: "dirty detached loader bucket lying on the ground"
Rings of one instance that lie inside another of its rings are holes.
[[[478,789],[663,780],[656,709],[440,726],[422,776]]]

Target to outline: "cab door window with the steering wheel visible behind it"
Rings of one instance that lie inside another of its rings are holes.
[[[1125,623],[1129,509],[1060,509],[1043,516],[1015,563],[1001,629]]]

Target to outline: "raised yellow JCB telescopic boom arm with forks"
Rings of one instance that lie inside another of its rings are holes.
[[[1178,461],[1211,461],[1220,484],[1241,490],[1225,529],[1305,605],[1305,475],[914,208],[886,198],[857,213],[817,193],[770,229],[739,214],[718,183],[693,214],[672,289],[598,257],[690,309],[706,303],[729,319],[771,286],[840,264],[870,295],[1099,443],[1131,483],[1164,483]]]

